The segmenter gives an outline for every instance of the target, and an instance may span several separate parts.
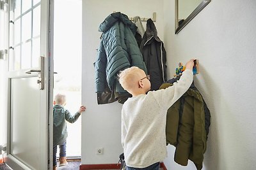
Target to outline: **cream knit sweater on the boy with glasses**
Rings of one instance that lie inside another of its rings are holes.
[[[148,167],[167,157],[166,113],[192,81],[193,72],[186,69],[173,86],[127,99],[122,108],[122,145],[127,166]]]

